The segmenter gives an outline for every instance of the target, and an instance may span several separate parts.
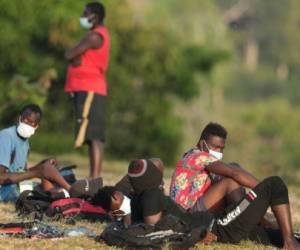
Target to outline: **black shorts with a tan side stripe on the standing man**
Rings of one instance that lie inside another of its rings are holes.
[[[93,92],[74,92],[75,147],[91,140],[105,141],[106,97]]]

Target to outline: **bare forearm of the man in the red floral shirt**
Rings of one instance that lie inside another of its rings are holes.
[[[244,187],[254,188],[259,183],[258,180],[246,170],[228,165],[221,161],[210,163],[206,169],[214,174],[229,177]]]

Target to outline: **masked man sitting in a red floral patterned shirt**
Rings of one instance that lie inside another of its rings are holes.
[[[209,123],[195,148],[186,152],[173,173],[170,197],[184,209],[218,212],[226,204],[236,203],[244,195],[243,187],[254,188],[258,181],[250,173],[221,161],[227,137],[226,129]],[[204,198],[204,193],[212,195]],[[226,194],[224,196],[224,194]]]

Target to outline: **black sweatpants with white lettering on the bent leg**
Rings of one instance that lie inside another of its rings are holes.
[[[212,232],[223,243],[238,243],[256,237],[261,243],[269,244],[269,234],[264,231],[260,234],[264,229],[259,224],[269,206],[288,203],[288,190],[282,179],[277,176],[266,178],[237,205],[227,208],[216,220]]]

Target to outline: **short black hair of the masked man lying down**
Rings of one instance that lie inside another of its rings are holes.
[[[105,186],[98,190],[98,192],[92,198],[92,203],[102,207],[106,211],[111,210],[111,197],[117,189],[113,186]]]

